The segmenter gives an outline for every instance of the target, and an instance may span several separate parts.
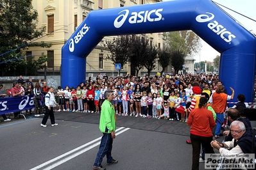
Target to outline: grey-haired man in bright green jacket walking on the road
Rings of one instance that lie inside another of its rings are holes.
[[[94,162],[93,169],[105,170],[105,167],[101,165],[101,162],[105,155],[107,155],[107,165],[117,164],[118,160],[114,160],[111,156],[113,139],[115,139],[115,109],[111,104],[114,96],[113,91],[108,89],[104,93],[106,99],[101,105],[101,117],[99,119],[99,130],[103,132],[101,138],[101,144],[99,145],[99,151],[97,153],[96,160]]]

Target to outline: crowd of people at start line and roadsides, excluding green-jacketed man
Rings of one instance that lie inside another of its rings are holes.
[[[0,97],[4,97],[1,88],[3,85],[0,84]],[[250,121],[243,112],[243,109],[248,106],[244,103],[245,97],[243,94],[237,95],[237,104],[232,109],[228,109],[227,100],[234,98],[235,90],[230,87],[232,94],[226,94],[225,86],[219,81],[218,75],[193,76],[189,74],[162,77],[128,75],[109,78],[105,76],[102,79],[98,76],[93,80],[89,77],[85,83],[81,82],[76,87],[65,86],[63,89],[58,86],[56,91],[52,87],[48,88],[46,82],[40,80],[34,85],[30,79],[25,87],[22,76],[20,76],[20,79],[13,83],[11,92],[13,97],[33,95],[34,114],[37,116],[46,113],[41,123],[42,127],[46,127],[48,116],[51,118],[52,126],[58,125],[53,115],[53,107],[57,105],[55,97],[58,98],[57,111],[99,114],[107,90],[112,91],[111,100],[108,102],[112,104],[116,116],[141,116],[187,122],[187,125],[191,126],[191,140],[187,140],[189,141],[187,143],[192,143],[192,169],[198,169],[199,162],[204,161],[204,154],[214,153],[213,148],[225,154],[230,152],[224,150],[223,147],[230,148],[230,150],[236,148],[236,153],[254,153],[244,146],[244,142],[238,142],[244,135],[246,139],[243,140],[253,138],[250,138],[252,135]],[[43,104],[45,96],[47,104]],[[3,114],[4,121],[10,121],[4,116]],[[19,118],[18,112],[15,112],[14,116]],[[233,121],[234,123],[231,123]],[[231,123],[230,130],[223,132],[224,135],[228,135],[226,143],[212,141],[212,136],[218,139],[221,135],[221,127],[226,127],[228,123]],[[216,130],[213,131],[213,127],[216,127]],[[203,154],[200,158],[201,144]]]

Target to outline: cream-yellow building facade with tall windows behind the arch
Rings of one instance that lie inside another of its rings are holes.
[[[162,1],[162,0],[161,0]],[[46,35],[38,39],[38,42],[51,43],[51,47],[29,47],[24,54],[33,55],[35,59],[42,53],[47,55],[51,60],[47,61],[48,70],[60,72],[62,59],[62,46],[74,33],[76,28],[83,22],[90,11],[101,10],[107,8],[119,8],[125,6],[133,6],[138,4],[158,3],[157,0],[33,0],[33,8],[38,12],[38,27],[46,26]],[[100,22],[100,21],[99,21]],[[146,34],[152,45],[157,48],[165,46],[165,37],[163,33]],[[109,76],[117,75],[114,63],[107,61],[104,55],[108,54],[106,43],[113,40],[114,36],[107,36],[98,43],[98,45],[87,56],[86,72],[87,77],[97,77],[99,74],[107,74]],[[156,61],[157,62],[157,61]],[[152,71],[154,73],[162,70],[158,63],[157,67]],[[83,72],[84,70],[81,70]],[[121,75],[131,73],[130,63],[122,66]],[[146,68],[141,70],[139,75],[144,75]]]

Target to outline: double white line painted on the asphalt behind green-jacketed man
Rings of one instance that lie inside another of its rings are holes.
[[[122,134],[123,132],[125,132],[126,130],[129,130],[130,128],[124,128],[124,127],[120,127],[120,128],[117,128],[117,130],[115,130],[115,135],[119,135],[119,134]],[[123,129],[123,130],[122,130]],[[119,132],[120,131],[120,132]],[[56,158],[53,158],[47,162],[44,162],[43,164],[40,164],[39,166],[36,166],[36,167],[33,167],[32,169],[30,170],[36,170],[36,169],[40,169],[41,167],[45,167],[49,164],[51,164],[52,162],[55,162],[56,160],[59,160],[58,162],[56,162],[55,164],[52,164],[51,166],[48,166],[44,169],[53,169],[54,167],[56,166],[59,166],[60,164],[63,164],[64,162],[67,162],[68,160],[71,160],[72,158],[74,157],[77,157],[78,155],[80,155],[81,153],[84,153],[85,151],[89,151],[90,149],[98,146],[100,144],[100,141],[101,140],[101,137],[98,137],[97,139],[94,139],[93,141],[90,141],[89,143],[86,143],[86,144],[83,144],[82,146],[79,146],[78,148],[74,148],[74,150],[71,150],[71,151],[68,151]],[[99,142],[98,142],[99,141]],[[98,143],[96,143],[98,142]],[[95,143],[95,144],[93,144]],[[89,146],[88,148],[85,148],[86,146],[92,144],[92,146]],[[84,148],[83,150],[81,150],[82,148]],[[81,150],[81,151],[78,151],[78,150]],[[78,151],[77,153],[74,153]],[[71,153],[73,153],[72,155],[70,155]],[[67,155],[70,155],[69,157],[67,158],[64,158],[62,160],[60,160],[61,158],[63,157],[66,157]]]

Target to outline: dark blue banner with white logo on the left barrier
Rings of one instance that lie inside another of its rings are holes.
[[[19,112],[35,107],[33,95],[24,97],[0,98],[0,114]]]

